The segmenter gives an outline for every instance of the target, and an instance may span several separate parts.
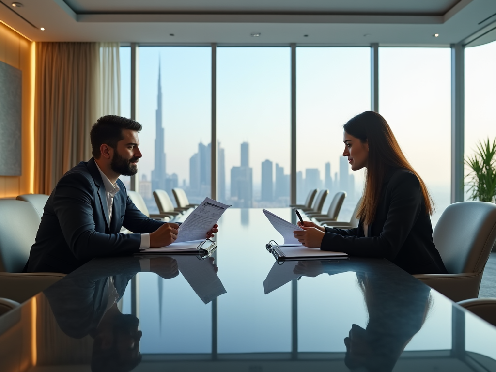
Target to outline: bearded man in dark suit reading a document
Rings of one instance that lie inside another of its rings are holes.
[[[132,254],[176,240],[179,225],[146,217],[119,180],[137,172],[141,128],[113,115],[97,120],[90,132],[93,158],[69,170],[55,186],[25,271],[68,274],[95,257]],[[123,226],[137,234],[119,233]],[[206,237],[217,231],[215,225]]]

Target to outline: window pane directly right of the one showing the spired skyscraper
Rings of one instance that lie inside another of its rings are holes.
[[[290,48],[217,49],[219,199],[235,208],[289,205],[290,86]]]

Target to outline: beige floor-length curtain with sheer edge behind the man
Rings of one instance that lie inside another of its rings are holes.
[[[37,43],[35,193],[50,194],[62,175],[91,158],[89,132],[120,113],[118,43]]]

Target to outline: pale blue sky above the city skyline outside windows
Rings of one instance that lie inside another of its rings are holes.
[[[496,136],[496,42],[467,48],[465,152]],[[211,50],[209,47],[140,47],[138,121],[143,159],[153,169],[157,78],[161,64],[167,173],[189,182],[189,158],[210,142]],[[121,48],[122,115],[129,115],[130,52]],[[217,48],[217,137],[225,149],[226,181],[240,164],[247,141],[253,182],[261,162],[279,163],[289,174],[291,54],[289,47]],[[449,48],[379,48],[379,113],[405,155],[430,188],[438,209],[449,204],[451,146]],[[370,49],[297,48],[297,170],[331,162],[339,172],[342,125],[370,110]],[[186,133],[186,134],[185,134]],[[304,172],[305,173],[305,172]],[[351,170],[350,170],[351,173]],[[363,172],[355,173],[357,190]]]

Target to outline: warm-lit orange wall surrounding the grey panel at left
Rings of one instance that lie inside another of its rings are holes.
[[[0,23],[0,61],[22,71],[22,174],[20,177],[0,176],[0,198],[15,197],[33,189],[34,44]]]

